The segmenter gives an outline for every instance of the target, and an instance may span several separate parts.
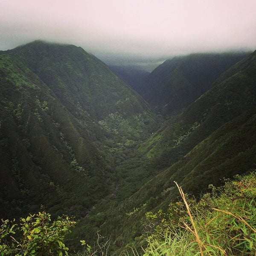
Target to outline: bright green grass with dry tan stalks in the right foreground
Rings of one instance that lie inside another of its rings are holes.
[[[148,215],[158,224],[143,256],[256,255],[256,172],[209,187],[198,202],[178,187],[183,201]]]

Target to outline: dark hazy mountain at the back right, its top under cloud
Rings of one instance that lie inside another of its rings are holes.
[[[248,53],[191,54],[165,61],[148,76],[142,96],[157,111],[173,115],[212,87],[212,83]]]

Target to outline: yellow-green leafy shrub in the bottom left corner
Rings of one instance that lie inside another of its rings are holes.
[[[50,214],[38,212],[15,220],[3,220],[0,225],[0,255],[62,256],[68,255],[64,237],[76,222],[67,216],[51,222]]]

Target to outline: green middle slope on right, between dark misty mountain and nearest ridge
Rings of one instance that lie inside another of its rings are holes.
[[[189,105],[183,113],[167,121],[140,147],[140,151],[147,152],[147,157],[152,162],[161,162],[160,166],[168,166],[187,154],[221,125],[247,110],[254,109],[254,56],[255,53],[224,73],[221,77],[228,76],[235,67],[237,69],[236,73],[223,81],[219,80],[219,83]]]

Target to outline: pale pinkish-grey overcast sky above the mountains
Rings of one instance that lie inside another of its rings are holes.
[[[0,0],[0,49],[37,39],[106,62],[256,49],[256,0]]]

